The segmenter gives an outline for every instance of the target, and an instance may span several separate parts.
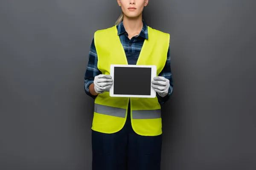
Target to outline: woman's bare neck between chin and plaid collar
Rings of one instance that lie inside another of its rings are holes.
[[[143,22],[142,22],[142,14],[138,17],[127,17],[124,14],[123,24],[125,27],[125,31],[129,33],[140,33]]]

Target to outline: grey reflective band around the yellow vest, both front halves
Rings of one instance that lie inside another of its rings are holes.
[[[94,104],[94,111],[96,113],[105,114],[109,116],[116,116],[125,118],[126,109],[115,108],[106,105]],[[161,109],[157,110],[140,110],[132,111],[133,119],[157,119],[161,118]]]

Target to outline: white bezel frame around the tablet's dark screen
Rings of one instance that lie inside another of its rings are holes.
[[[157,66],[156,65],[110,65],[110,75],[113,79],[113,85],[109,89],[109,95],[111,97],[144,97],[144,98],[155,98],[156,97],[156,91],[154,91],[154,88],[151,86],[151,95],[123,95],[123,94],[114,94],[114,68],[115,67],[140,67],[140,68],[151,68],[151,82],[153,81],[154,77],[157,76]],[[136,83],[136,82],[134,82]],[[151,83],[152,85],[152,83]]]

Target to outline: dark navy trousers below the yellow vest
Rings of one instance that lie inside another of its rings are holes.
[[[116,133],[92,130],[93,170],[160,170],[162,135],[140,136],[131,127],[130,103],[125,126]]]

